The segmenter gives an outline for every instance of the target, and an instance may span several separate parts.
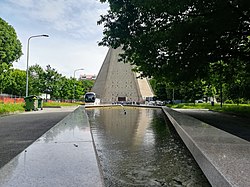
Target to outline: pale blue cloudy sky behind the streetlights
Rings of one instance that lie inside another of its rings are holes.
[[[26,70],[28,38],[47,34],[30,39],[29,66],[50,65],[66,77],[97,75],[108,51],[98,46],[103,26],[97,21],[107,10],[108,4],[98,0],[0,0],[0,17],[22,43],[23,55],[14,68]]]

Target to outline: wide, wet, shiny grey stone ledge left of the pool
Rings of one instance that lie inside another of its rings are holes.
[[[2,167],[0,186],[103,186],[84,108]]]

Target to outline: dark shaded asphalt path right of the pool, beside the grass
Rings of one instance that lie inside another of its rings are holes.
[[[250,118],[222,114],[209,110],[177,109],[209,125],[250,141]]]

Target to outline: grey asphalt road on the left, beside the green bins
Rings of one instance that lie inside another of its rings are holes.
[[[76,107],[44,108],[0,117],[0,168]]]

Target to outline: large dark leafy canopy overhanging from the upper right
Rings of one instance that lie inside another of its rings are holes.
[[[206,79],[218,61],[250,69],[249,0],[100,1],[110,10],[98,22],[104,25],[99,45],[122,46],[121,59],[144,76],[176,83]]]

